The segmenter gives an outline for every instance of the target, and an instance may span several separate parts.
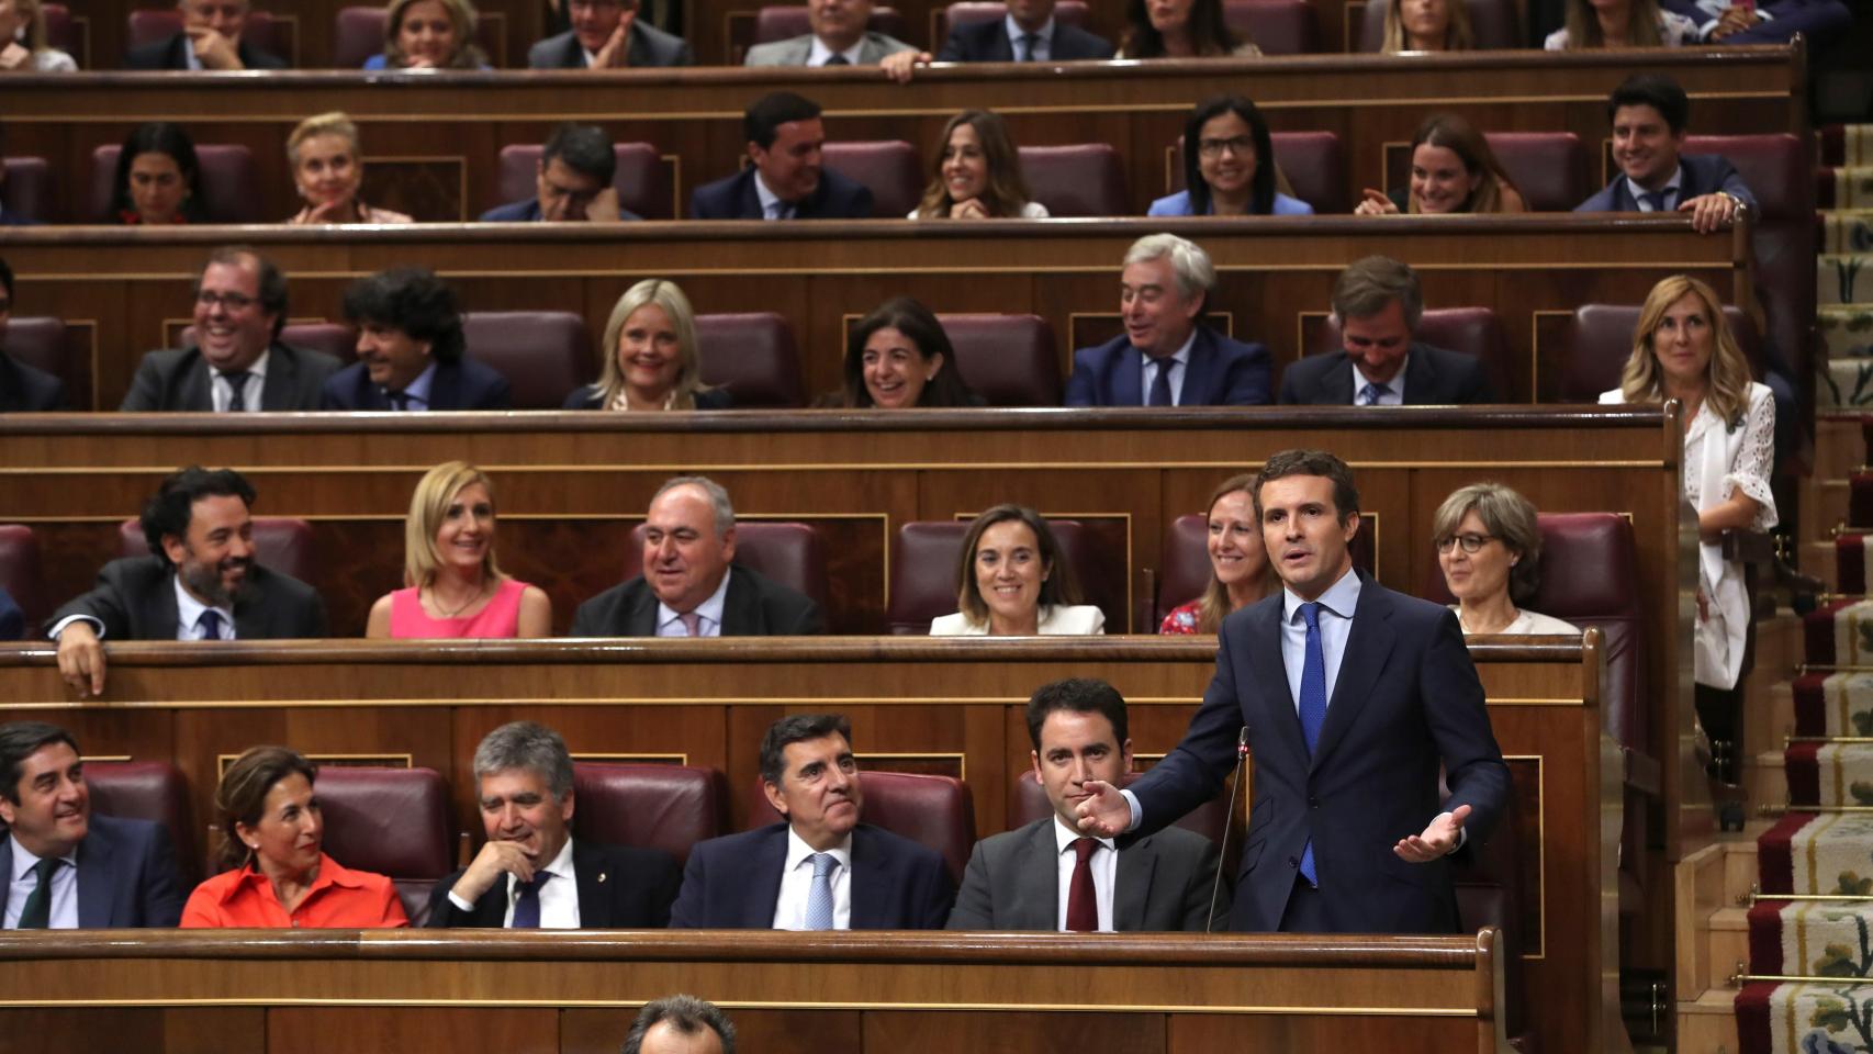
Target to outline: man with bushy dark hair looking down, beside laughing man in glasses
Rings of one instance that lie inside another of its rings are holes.
[[[324,410],[506,410],[508,378],[466,358],[455,290],[427,268],[391,268],[345,290],[358,361],[326,378]]]

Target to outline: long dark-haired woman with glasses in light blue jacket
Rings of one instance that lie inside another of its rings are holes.
[[[1184,122],[1184,187],[1146,215],[1313,215],[1313,206],[1276,189],[1268,122],[1242,95],[1199,103]]]

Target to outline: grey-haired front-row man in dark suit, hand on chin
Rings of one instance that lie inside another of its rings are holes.
[[[431,927],[663,929],[682,874],[657,850],[571,835],[573,758],[545,725],[513,721],[474,751],[487,842],[436,884]]]

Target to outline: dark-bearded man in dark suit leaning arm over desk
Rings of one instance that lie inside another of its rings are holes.
[[[103,640],[326,637],[311,586],[253,562],[253,487],[230,468],[184,468],[142,507],[150,556],[105,564],[58,608],[58,672],[79,696],[105,691]]]

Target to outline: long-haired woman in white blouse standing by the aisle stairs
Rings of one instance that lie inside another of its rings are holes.
[[[1742,672],[1749,631],[1744,569],[1723,560],[1725,530],[1776,526],[1776,401],[1749,378],[1749,359],[1723,320],[1723,303],[1704,283],[1673,275],[1646,296],[1633,354],[1601,403],[1684,404],[1684,496],[1703,537],[1697,571],[1695,674],[1699,685],[1729,691]],[[1704,710],[1704,708],[1701,708]],[[1712,738],[1723,738],[1704,719]]]

